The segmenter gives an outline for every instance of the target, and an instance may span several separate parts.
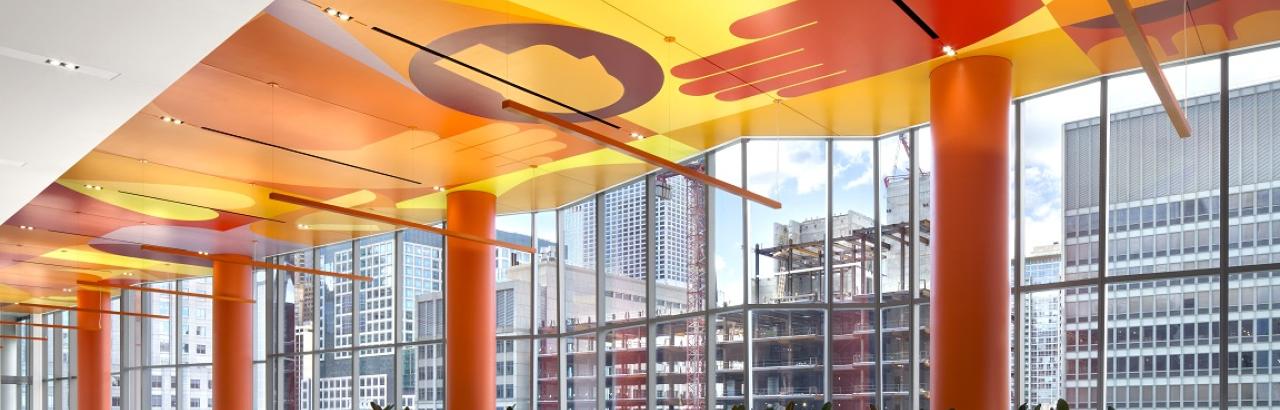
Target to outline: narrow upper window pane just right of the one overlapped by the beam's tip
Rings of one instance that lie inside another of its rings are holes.
[[[874,141],[832,142],[831,292],[836,302],[869,302],[874,296]]]

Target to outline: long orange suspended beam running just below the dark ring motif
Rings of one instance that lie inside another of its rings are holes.
[[[621,151],[622,154],[626,154],[627,156],[631,156],[631,158],[639,159],[641,161],[649,163],[650,165],[654,165],[654,167],[658,167],[658,168],[663,168],[663,169],[675,172],[677,174],[684,176],[685,178],[694,179],[694,181],[698,181],[698,182],[701,182],[701,183],[705,183],[705,184],[721,188],[724,192],[741,196],[741,197],[744,197],[744,199],[746,199],[749,201],[753,201],[753,202],[756,202],[756,204],[760,204],[760,205],[764,205],[764,206],[768,206],[768,208],[773,208],[773,209],[782,208],[782,202],[778,202],[778,201],[776,201],[773,199],[769,199],[769,197],[767,197],[764,195],[759,195],[759,193],[744,190],[744,188],[741,188],[739,186],[735,186],[732,183],[721,181],[718,178],[713,178],[712,176],[708,176],[705,173],[700,173],[696,169],[692,169],[692,168],[689,168],[689,167],[685,167],[685,165],[681,165],[681,164],[677,164],[677,163],[673,163],[673,161],[669,161],[669,160],[667,160],[667,159],[664,159],[662,156],[658,156],[658,155],[649,154],[645,150],[641,150],[641,149],[626,145],[622,141],[618,141],[616,138],[611,138],[609,136],[605,136],[603,133],[588,129],[588,128],[585,128],[582,126],[579,126],[579,124],[563,120],[559,117],[539,111],[538,109],[534,109],[531,106],[527,106],[527,105],[524,105],[524,104],[520,104],[520,102],[516,102],[516,101],[512,101],[512,100],[504,100],[504,101],[502,101],[502,108],[507,109],[507,110],[517,111],[517,113],[521,113],[521,114],[525,114],[525,115],[529,115],[529,117],[532,117],[535,119],[539,119],[541,122],[549,123],[552,126],[557,126],[557,127],[572,131],[573,133],[576,133],[576,135],[581,136],[582,138],[589,140],[591,142],[603,145],[603,146],[605,146],[608,149],[612,149],[614,151]]]

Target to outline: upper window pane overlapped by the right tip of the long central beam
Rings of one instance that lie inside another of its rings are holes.
[[[751,140],[746,187],[782,202],[751,202],[750,272],[760,304],[823,301],[827,237],[827,141]]]

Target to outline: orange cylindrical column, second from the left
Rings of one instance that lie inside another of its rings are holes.
[[[250,261],[243,255],[221,255]],[[214,261],[214,296],[253,299],[248,265]],[[253,409],[253,305],[214,300],[214,404],[218,409]]]

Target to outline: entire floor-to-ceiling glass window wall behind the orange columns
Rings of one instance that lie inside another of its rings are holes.
[[[1165,67],[1193,135],[1117,73],[1012,109],[1011,406],[1280,405],[1280,49]],[[931,129],[744,137],[685,164],[773,210],[654,172],[504,215],[497,395],[517,409],[928,406]],[[445,240],[381,233],[274,255],[374,279],[257,273],[261,409],[443,409]],[[151,283],[207,291],[207,279]],[[210,407],[205,300],[113,308],[114,405]],[[35,320],[73,324],[68,313]],[[74,402],[74,337],[32,329],[27,407]]]

